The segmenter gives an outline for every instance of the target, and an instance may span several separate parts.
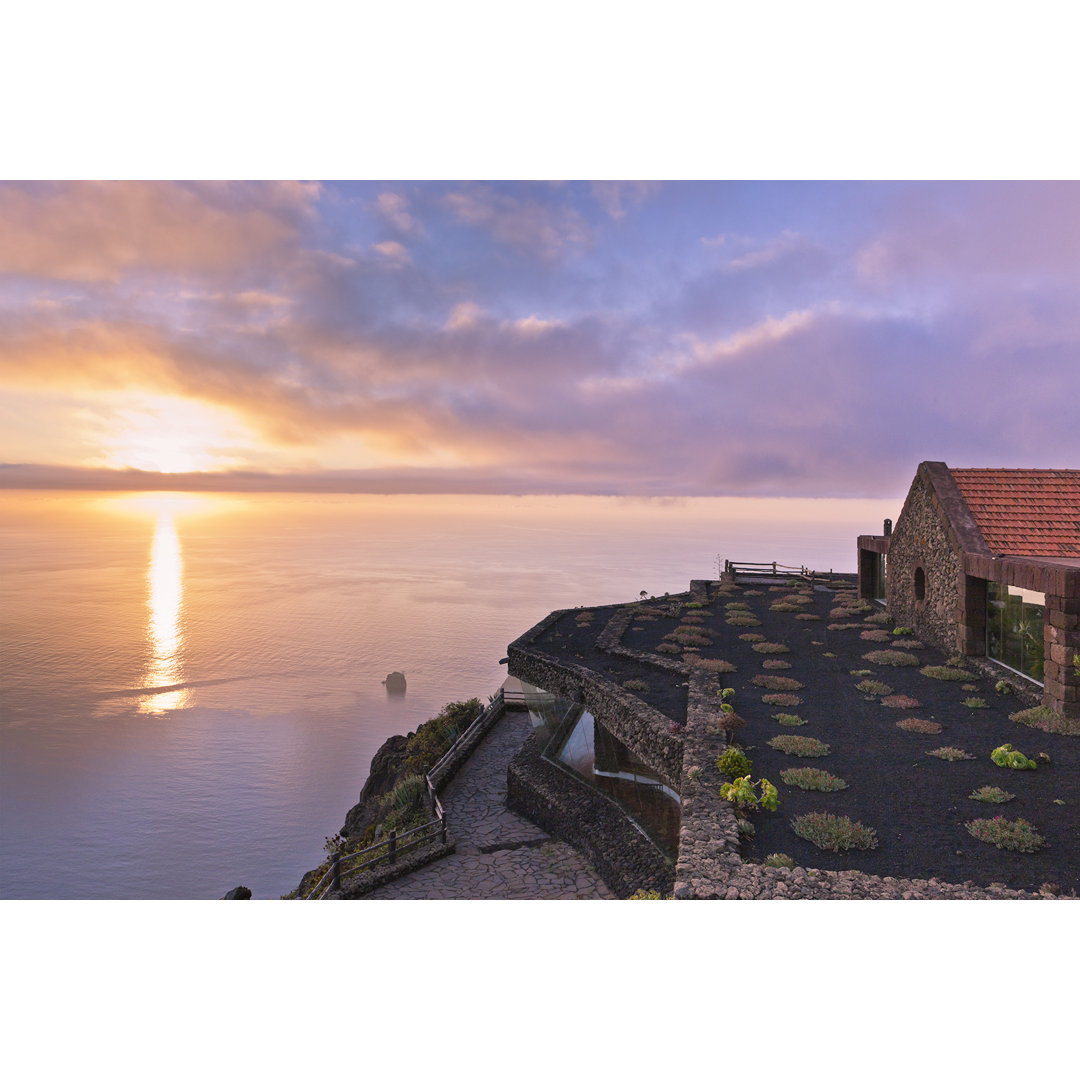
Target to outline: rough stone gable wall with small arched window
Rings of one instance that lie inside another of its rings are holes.
[[[889,544],[889,613],[900,626],[947,653],[959,651],[958,588],[960,552],[948,536],[934,494],[921,472],[916,476]],[[926,598],[915,596],[915,571],[926,575]]]

